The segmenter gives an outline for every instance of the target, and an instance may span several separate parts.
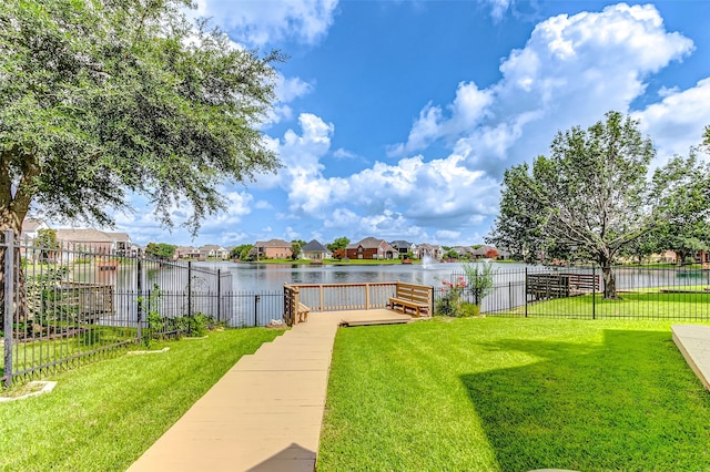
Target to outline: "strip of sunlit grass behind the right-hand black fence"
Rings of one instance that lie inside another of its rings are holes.
[[[591,318],[639,318],[639,319],[710,319],[710,293],[619,293],[618,300],[596,296],[557,298],[554,300],[529,304],[528,315],[555,317]],[[594,305],[594,306],[592,306]],[[520,307],[511,311],[525,314]]]

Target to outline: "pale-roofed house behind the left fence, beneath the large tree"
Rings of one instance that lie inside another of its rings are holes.
[[[67,250],[132,256],[138,247],[128,233],[110,233],[94,228],[60,228],[57,240]]]

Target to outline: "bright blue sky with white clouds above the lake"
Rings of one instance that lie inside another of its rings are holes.
[[[192,14],[290,55],[262,127],[284,168],[225,184],[229,211],[194,239],[135,198],[116,228],[140,244],[480,244],[503,172],[557,131],[630,113],[662,164],[710,124],[708,1],[199,0]]]

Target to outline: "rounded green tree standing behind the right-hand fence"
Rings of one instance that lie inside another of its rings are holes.
[[[687,198],[678,197],[676,166],[694,162],[677,158],[649,179],[653,156],[638,122],[617,112],[588,130],[559,132],[549,157],[505,172],[500,214],[487,242],[527,260],[588,255],[601,266],[605,298],[616,298],[615,257],[663,222],[689,214]]]

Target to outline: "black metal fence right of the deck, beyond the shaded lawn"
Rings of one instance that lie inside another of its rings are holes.
[[[527,267],[494,270],[493,288],[480,312],[515,317],[589,319],[710,320],[710,270],[678,267],[612,267],[616,297],[605,298],[599,267]],[[474,302],[466,274],[454,273],[435,287],[435,307],[445,306],[452,288]]]

